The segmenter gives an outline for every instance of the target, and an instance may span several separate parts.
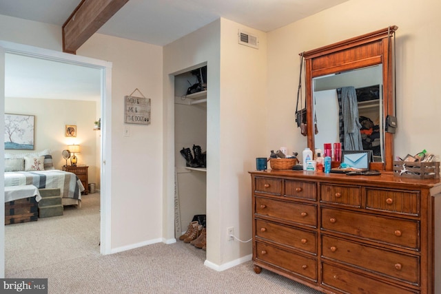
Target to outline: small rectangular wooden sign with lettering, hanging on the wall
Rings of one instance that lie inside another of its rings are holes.
[[[124,96],[124,123],[150,125],[150,98]]]

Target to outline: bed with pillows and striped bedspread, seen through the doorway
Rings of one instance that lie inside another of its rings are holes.
[[[30,154],[5,154],[5,187],[25,189],[26,185],[60,189],[63,205],[81,207],[84,191],[81,180],[73,173],[54,169],[49,149]]]

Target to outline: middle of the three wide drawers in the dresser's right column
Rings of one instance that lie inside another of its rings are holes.
[[[322,255],[412,284],[420,284],[420,258],[322,236]]]

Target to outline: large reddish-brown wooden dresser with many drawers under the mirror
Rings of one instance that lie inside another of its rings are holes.
[[[250,174],[256,273],[324,293],[441,293],[440,180]]]

